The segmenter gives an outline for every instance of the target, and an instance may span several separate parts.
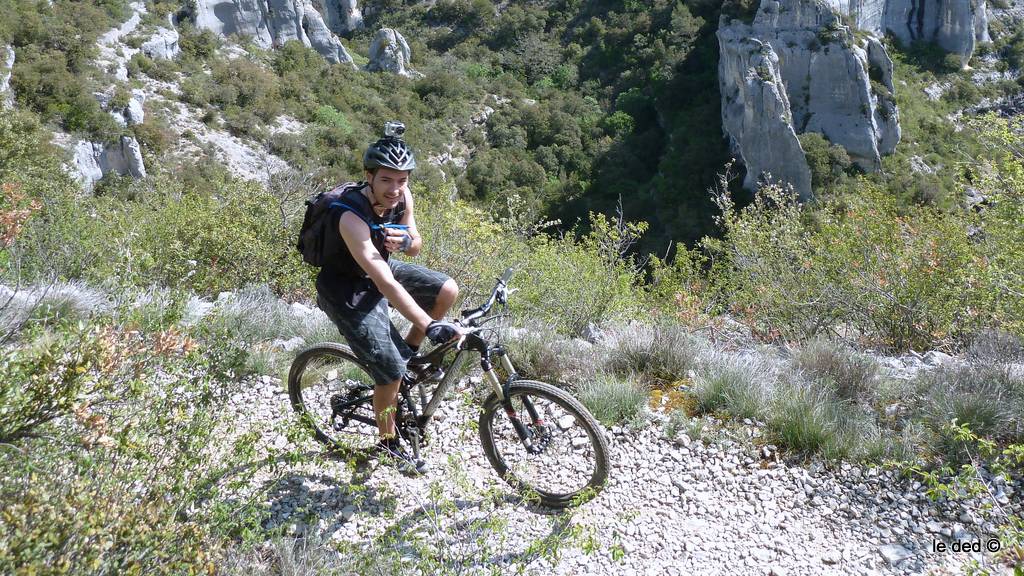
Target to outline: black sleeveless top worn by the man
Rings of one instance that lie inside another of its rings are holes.
[[[355,182],[342,194],[340,202],[348,208],[335,207],[331,210],[331,229],[338,232],[338,222],[345,212],[354,212],[364,221],[375,224],[396,223],[406,214],[406,200],[378,216],[374,212],[370,200],[362,194],[367,182]],[[370,231],[370,240],[380,252],[384,261],[390,257],[390,252],[384,247],[385,231],[382,229]],[[316,292],[337,311],[354,310],[366,312],[372,310],[383,297],[373,280],[367,276],[362,266],[355,261],[344,240],[339,238],[340,248],[337,257],[328,260],[316,276]]]

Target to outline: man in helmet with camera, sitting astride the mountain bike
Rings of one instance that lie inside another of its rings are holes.
[[[409,190],[416,159],[403,133],[402,124],[388,122],[384,137],[370,145],[362,157],[367,180],[348,187],[331,204],[329,230],[338,231],[344,242],[316,277],[316,303],[352,352],[372,367],[378,448],[395,456],[403,471],[419,474],[424,462],[414,461],[395,436],[398,388],[424,336],[441,343],[463,331],[442,320],[459,295],[456,282],[390,258],[394,252],[416,256],[423,246]],[[389,304],[413,324],[404,337],[391,324]]]

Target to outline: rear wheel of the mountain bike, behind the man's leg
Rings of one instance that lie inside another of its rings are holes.
[[[325,342],[299,353],[288,375],[288,395],[329,448],[366,450],[376,444],[374,379],[348,346]]]

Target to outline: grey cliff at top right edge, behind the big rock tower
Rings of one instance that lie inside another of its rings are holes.
[[[967,66],[979,42],[989,42],[985,0],[824,0],[861,30],[890,33],[904,44],[935,42]]]

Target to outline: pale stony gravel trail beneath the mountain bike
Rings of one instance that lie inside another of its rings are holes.
[[[446,527],[454,536],[437,553],[467,573],[507,563],[537,574],[944,574],[972,559],[992,562],[986,553],[934,551],[939,542],[988,545],[993,526],[980,502],[932,502],[919,483],[891,470],[786,462],[755,422],[712,423],[698,440],[667,439],[656,422],[613,427],[609,484],[566,522],[515,501],[489,468],[470,424],[478,409],[464,404],[471,396],[463,388],[442,405],[424,477],[375,460],[288,465],[266,478],[270,525],[364,546],[389,529],[436,536]],[[288,445],[266,425],[291,417],[278,380],[264,377],[231,406],[241,422],[262,426],[267,447]],[[299,448],[321,452],[311,440]],[[1017,513],[1019,484],[996,492]],[[481,519],[502,529],[483,536],[467,529]],[[537,551],[551,535],[567,538],[557,558]]]

